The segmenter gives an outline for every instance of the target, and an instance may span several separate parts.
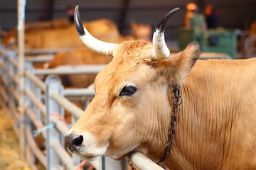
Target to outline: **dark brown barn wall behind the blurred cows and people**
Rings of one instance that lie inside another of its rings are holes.
[[[186,15],[186,5],[188,3],[195,3],[198,10],[205,16],[205,9],[208,4],[213,4],[219,16],[218,28],[226,30],[225,33],[234,34],[238,39],[238,56],[246,57],[244,49],[245,39],[250,35],[250,26],[255,21],[255,1],[26,1],[26,19],[27,23],[36,23],[42,21],[52,21],[59,18],[68,19],[68,7],[75,8],[80,5],[80,15],[84,21],[95,21],[100,18],[107,18],[119,29],[122,35],[131,35],[132,23],[146,24],[151,27],[151,34],[149,28],[144,28],[149,40],[151,40],[152,30],[156,26],[159,18],[164,16],[171,8],[179,7],[180,10],[176,13],[166,26],[166,41],[172,50],[180,50],[184,45],[187,45],[186,30],[182,30],[183,18]],[[0,23],[1,34],[15,28],[17,23],[17,1],[1,1]],[[72,13],[72,12],[71,12]],[[137,28],[139,29],[139,28]],[[141,28],[143,29],[143,28]],[[238,30],[238,32],[232,32]],[[230,31],[230,32],[229,32]],[[140,33],[142,34],[142,33]],[[206,35],[203,35],[206,36]],[[225,35],[223,35],[225,36]],[[193,38],[190,38],[193,40]],[[203,40],[202,40],[203,41]],[[230,40],[233,41],[233,40]],[[202,42],[206,43],[206,42]],[[217,48],[217,47],[216,47]],[[218,51],[218,50],[217,50]]]

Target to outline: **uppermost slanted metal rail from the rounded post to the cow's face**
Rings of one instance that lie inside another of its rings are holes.
[[[57,103],[59,103],[60,106],[63,106],[63,108],[65,108],[65,110],[67,110],[73,116],[75,116],[75,118],[81,117],[83,111],[80,108],[78,108],[78,106],[75,106],[73,103],[68,101],[67,98],[60,96],[59,94],[57,94],[55,92],[50,94],[50,97],[53,98]]]

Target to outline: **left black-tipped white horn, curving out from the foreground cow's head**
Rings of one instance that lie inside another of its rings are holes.
[[[80,13],[78,10],[78,6],[75,6],[74,11],[74,20],[75,20],[75,28],[78,31],[78,35],[82,42],[91,50],[98,52],[102,55],[110,55],[112,56],[113,48],[118,44],[103,42],[101,40],[97,40],[94,38],[82,25],[82,21],[80,19]]]

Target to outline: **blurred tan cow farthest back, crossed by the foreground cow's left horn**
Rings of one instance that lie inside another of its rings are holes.
[[[76,35],[75,26],[73,24],[63,24],[64,26],[62,26],[60,21],[58,24],[56,22],[43,24],[43,26],[39,24],[38,28],[35,25],[26,26],[25,49],[78,49],[83,47],[84,45]],[[120,37],[117,26],[108,19],[101,18],[83,23],[95,38],[102,38],[107,42],[112,42]],[[71,38],[73,38],[73,41],[70,41]],[[10,31],[4,38],[3,43],[6,47],[16,49],[16,31]]]

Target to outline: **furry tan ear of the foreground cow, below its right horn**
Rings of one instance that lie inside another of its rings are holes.
[[[201,51],[198,42],[191,42],[185,50],[174,55],[166,60],[159,60],[156,68],[161,69],[161,72],[169,74],[171,77],[182,79],[190,74],[193,65],[200,56]]]

